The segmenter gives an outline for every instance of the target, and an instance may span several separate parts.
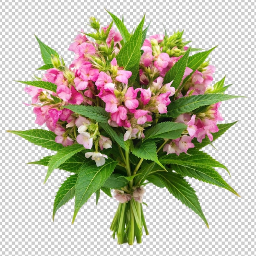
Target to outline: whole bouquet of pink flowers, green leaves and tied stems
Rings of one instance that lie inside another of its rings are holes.
[[[54,200],[56,211],[75,197],[79,209],[101,191],[119,201],[110,226],[117,243],[141,243],[148,234],[143,213],[144,186],[153,183],[197,213],[208,227],[194,189],[184,177],[238,193],[214,169],[228,169],[201,149],[234,125],[223,120],[220,102],[225,77],[211,85],[213,51],[186,46],[183,32],[146,37],[144,18],[130,34],[120,20],[101,27],[90,18],[94,33],[76,36],[69,50],[74,61],[65,65],[58,53],[37,37],[45,65],[42,78],[19,81],[29,86],[36,124],[49,130],[10,131],[57,153],[31,164],[73,173]],[[116,31],[113,27],[115,23]],[[191,54],[192,52],[198,52]],[[29,104],[27,104],[29,105]],[[239,195],[238,195],[239,196]]]

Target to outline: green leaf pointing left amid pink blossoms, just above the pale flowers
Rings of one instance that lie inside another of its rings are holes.
[[[75,112],[76,114],[83,115],[84,117],[88,117],[99,123],[108,122],[108,119],[110,119],[109,113],[106,112],[105,109],[101,107],[68,105],[68,106],[64,106],[64,108],[68,108],[73,112]]]

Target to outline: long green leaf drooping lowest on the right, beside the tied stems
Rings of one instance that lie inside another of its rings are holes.
[[[195,194],[194,189],[181,175],[173,172],[157,173],[161,181],[165,184],[168,191],[174,195],[175,198],[180,200],[187,207],[192,209],[209,228],[208,222],[202,212],[198,197]]]

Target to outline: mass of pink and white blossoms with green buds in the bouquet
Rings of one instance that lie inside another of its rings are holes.
[[[215,68],[208,62],[204,63],[177,92],[171,86],[172,82],[164,83],[164,77],[188,47],[180,40],[180,32],[171,37],[154,35],[141,47],[139,84],[132,86],[129,84],[132,72],[117,64],[116,56],[122,47],[121,34],[110,26],[99,29],[95,22],[91,20],[92,27],[97,29],[94,34],[96,41],[89,40],[85,34],[76,36],[69,47],[75,54],[69,67],[52,56],[53,68],[45,72],[42,81],[54,83],[56,92],[35,86],[29,86],[25,91],[32,96],[36,124],[46,124],[57,135],[55,141],[63,146],[77,142],[88,150],[94,147],[94,152],[86,153],[85,157],[92,157],[97,166],[101,166],[107,155],[98,150],[110,148],[112,141],[101,135],[101,129],[94,120],[77,115],[64,106],[101,106],[109,113],[110,126],[125,129],[124,141],[143,139],[144,130],[161,114],[167,113],[171,100],[210,90]],[[186,67],[182,81],[192,71]],[[163,150],[167,154],[179,155],[193,148],[193,138],[201,142],[207,135],[212,140],[211,133],[218,131],[216,123],[222,120],[219,106],[220,103],[216,103],[197,114],[185,113],[174,119],[184,123],[187,130],[180,138],[166,141]]]

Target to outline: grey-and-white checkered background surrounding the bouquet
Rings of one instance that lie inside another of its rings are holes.
[[[1,255],[255,255],[255,3],[253,0],[202,2],[7,0],[1,3]],[[231,177],[219,171],[241,198],[189,179],[210,229],[165,189],[150,185],[145,196],[148,208],[144,209],[150,235],[144,236],[140,245],[117,245],[111,238],[109,227],[117,202],[103,194],[98,206],[92,197],[82,207],[74,225],[71,225],[74,201],[61,208],[52,222],[54,196],[68,173],[56,170],[43,185],[46,168],[26,163],[51,152],[6,132],[37,128],[31,108],[23,104],[30,97],[23,91],[24,85],[14,81],[29,81],[31,76],[41,74],[35,71],[43,63],[34,34],[69,63],[73,55],[67,51],[68,45],[77,31],[88,30],[88,18],[97,16],[104,25],[110,22],[104,8],[118,16],[124,14],[130,31],[146,13],[146,21],[151,20],[150,34],[163,33],[164,27],[169,33],[184,29],[184,36],[193,41],[190,44],[193,47],[210,49],[219,45],[211,54],[211,62],[216,65],[214,81],[226,75],[226,84],[234,84],[228,93],[248,97],[222,104],[225,122],[239,122],[216,141],[218,151],[206,148],[228,166]]]

